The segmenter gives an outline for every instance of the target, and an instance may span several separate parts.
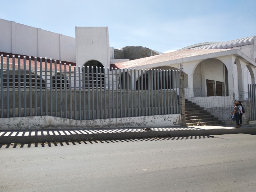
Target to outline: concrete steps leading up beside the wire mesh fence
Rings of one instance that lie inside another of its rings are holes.
[[[219,125],[221,121],[203,107],[185,99],[186,125]]]

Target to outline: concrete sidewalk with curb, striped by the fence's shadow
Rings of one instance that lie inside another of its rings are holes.
[[[235,128],[227,126],[179,126],[145,128],[112,128],[112,129],[59,129],[59,130],[18,130],[0,131],[0,143],[34,143],[63,142],[81,140],[124,140],[147,137],[182,137],[197,135],[220,135],[247,133],[256,134],[256,124],[243,125]]]

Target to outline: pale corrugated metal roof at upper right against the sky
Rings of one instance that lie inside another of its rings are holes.
[[[201,47],[195,47],[192,49],[229,49],[229,48],[233,48],[233,47],[240,47],[243,45],[253,44],[253,39],[254,39],[254,36],[250,36],[250,37],[245,37],[242,39],[236,39],[236,40],[232,40],[232,41],[225,41],[225,42],[205,45],[205,46],[201,46]]]

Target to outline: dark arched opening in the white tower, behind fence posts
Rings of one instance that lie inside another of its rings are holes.
[[[92,84],[93,84],[94,88],[98,88],[98,87],[96,87],[97,82],[98,82],[98,86],[100,86],[100,83],[101,83],[102,87],[104,87],[104,67],[103,67],[103,65],[97,60],[90,60],[84,64],[84,67],[85,67],[85,69],[84,69],[85,70],[85,77],[84,77],[85,87],[90,88],[90,87],[92,87]],[[88,79],[88,73],[89,73],[89,79]],[[101,73],[101,75],[100,75],[100,73]],[[89,83],[88,83],[88,80],[89,80]],[[88,86],[88,84],[89,84],[89,86]]]

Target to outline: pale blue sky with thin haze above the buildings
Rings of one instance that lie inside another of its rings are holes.
[[[166,52],[255,36],[256,0],[0,0],[0,18],[71,37],[107,26],[110,47]]]

